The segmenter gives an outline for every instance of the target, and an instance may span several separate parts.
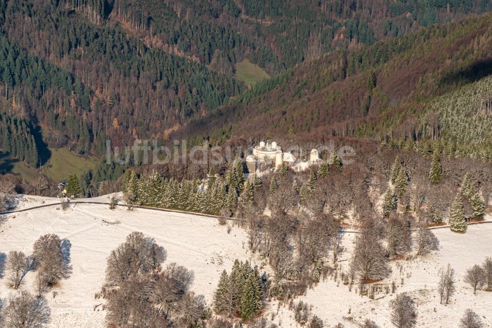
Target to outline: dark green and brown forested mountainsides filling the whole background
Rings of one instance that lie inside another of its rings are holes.
[[[100,156],[106,139],[225,140],[246,117],[244,129],[259,120],[265,133],[374,136],[361,130],[369,117],[458,87],[456,69],[490,50],[478,39],[490,19],[456,22],[490,10],[488,0],[0,0],[1,112],[42,128],[46,160],[47,147]],[[251,87],[239,63],[271,78]]]

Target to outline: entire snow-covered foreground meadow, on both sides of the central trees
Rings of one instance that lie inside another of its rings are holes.
[[[25,196],[18,209],[43,203],[58,203],[56,198]],[[108,197],[91,199],[108,201]],[[223,269],[230,270],[234,259],[248,259],[246,233],[233,227],[227,233],[214,218],[200,215],[135,209],[129,212],[119,207],[110,210],[107,205],[71,204],[67,211],[58,206],[9,214],[0,226],[0,256],[11,250],[31,254],[34,241],[42,234],[56,233],[70,241],[70,264],[72,273],[62,280],[47,296],[51,310],[51,328],[104,327],[105,311],[93,309],[104,300],[95,299],[104,280],[106,258],[131,231],[141,231],[155,238],[167,251],[164,263],[177,262],[195,273],[193,289],[205,295],[210,304]],[[102,220],[121,221],[119,225],[105,225]],[[481,264],[486,256],[492,256],[492,224],[472,225],[465,234],[449,229],[433,230],[440,242],[439,252],[412,261],[391,262],[392,275],[378,282],[383,289],[395,281],[397,293],[408,292],[418,305],[417,327],[458,327],[459,319],[466,308],[472,308],[482,316],[486,327],[492,327],[492,292],[477,291],[463,282],[465,270],[473,264]],[[341,270],[348,270],[355,233],[346,232],[340,256]],[[255,264],[259,261],[253,260]],[[456,272],[457,292],[450,304],[441,305],[435,291],[439,268],[451,264]],[[32,291],[34,272],[28,272],[22,289]],[[403,279],[403,283],[402,283]],[[380,327],[393,327],[390,323],[390,302],[395,294],[381,292],[371,300],[360,296],[357,286],[352,291],[337,280],[327,279],[314,289],[308,290],[303,299],[312,305],[313,314],[323,319],[325,327],[342,323],[345,327],[360,327],[359,323],[369,318]],[[0,279],[0,296],[5,298],[12,290],[6,286],[6,278]],[[349,314],[350,309],[350,314]],[[266,309],[266,314],[277,312],[275,304]],[[296,327],[292,312],[280,308],[274,322],[280,327]]]

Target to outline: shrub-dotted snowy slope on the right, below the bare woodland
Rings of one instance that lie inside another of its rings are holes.
[[[390,292],[386,295],[382,292],[371,300],[368,296],[356,293],[355,285],[349,292],[348,286],[328,279],[300,299],[311,304],[312,312],[325,324],[342,323],[345,327],[359,327],[358,323],[369,318],[380,327],[393,327],[390,323],[390,302],[396,294],[408,292],[416,300],[417,327],[456,328],[466,308],[471,308],[482,316],[485,327],[492,327],[492,292],[477,291],[477,295],[473,295],[471,287],[463,282],[467,268],[473,264],[482,264],[485,257],[492,256],[492,224],[470,225],[464,234],[454,233],[449,229],[433,232],[439,239],[439,252],[413,261],[391,262],[391,277],[377,283],[384,289],[384,286],[391,286],[392,281],[395,281],[395,294]],[[348,270],[354,241],[354,233],[346,233],[343,237],[345,252],[339,262],[342,270]],[[450,304],[445,305],[439,304],[436,288],[438,271],[448,263],[455,270],[456,294]]]

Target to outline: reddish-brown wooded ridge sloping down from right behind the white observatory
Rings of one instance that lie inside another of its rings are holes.
[[[411,147],[439,140],[455,152],[460,145],[488,147],[491,26],[492,16],[485,15],[332,51],[258,84],[193,121],[184,134],[203,133],[212,143],[263,131],[370,137],[393,140],[393,147],[401,139]]]

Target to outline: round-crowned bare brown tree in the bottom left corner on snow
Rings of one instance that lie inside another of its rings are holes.
[[[11,296],[4,316],[6,328],[42,328],[50,320],[50,308],[44,297],[22,291]]]

